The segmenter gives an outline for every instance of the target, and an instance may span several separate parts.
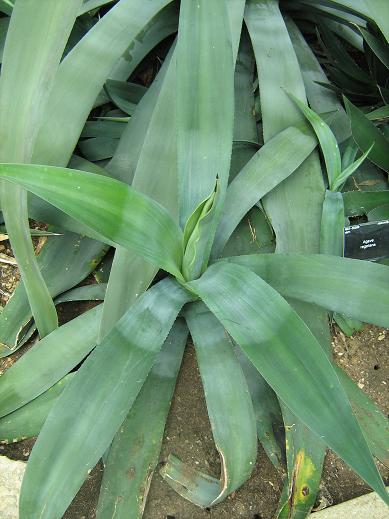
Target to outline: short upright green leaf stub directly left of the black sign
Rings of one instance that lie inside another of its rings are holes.
[[[326,191],[320,228],[320,253],[343,256],[344,205],[342,193]]]

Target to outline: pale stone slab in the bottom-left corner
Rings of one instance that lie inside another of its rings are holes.
[[[19,518],[19,494],[26,463],[0,456],[0,517]]]

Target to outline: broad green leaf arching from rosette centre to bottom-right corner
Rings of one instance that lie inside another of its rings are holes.
[[[290,305],[247,268],[222,262],[209,267],[188,286],[216,315],[285,405],[389,504],[389,495],[337,374]]]

